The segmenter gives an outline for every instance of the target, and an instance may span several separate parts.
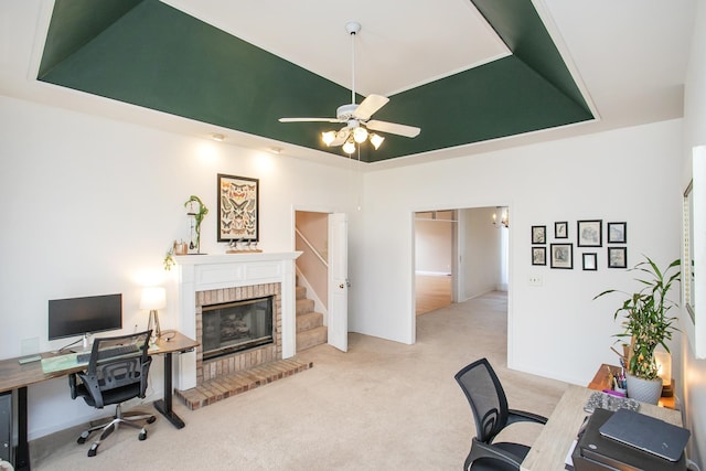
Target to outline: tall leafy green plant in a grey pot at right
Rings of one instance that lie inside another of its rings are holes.
[[[635,281],[640,282],[642,289],[633,293],[609,289],[593,299],[612,292],[628,295],[622,306],[613,313],[613,319],[618,319],[620,314],[623,317],[623,331],[614,336],[630,342],[625,358],[628,397],[657,404],[662,393],[662,379],[659,377],[654,350],[662,345],[668,352],[666,342],[678,331],[675,327],[677,319],[668,315],[670,310],[677,304],[667,299],[667,295],[672,283],[680,281],[681,260],[672,261],[662,271],[650,257],[644,258],[645,261],[630,269],[641,272]]]

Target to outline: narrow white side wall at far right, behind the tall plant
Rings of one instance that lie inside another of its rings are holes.
[[[684,147],[681,184],[685,189],[692,178],[692,149],[706,144],[706,1],[697,2],[691,61],[684,94]],[[697,269],[698,271],[698,269]],[[698,278],[697,278],[698,279]],[[702,278],[703,280],[703,278]],[[704,304],[704,302],[700,302]],[[702,306],[703,307],[703,306]],[[706,312],[699,311],[702,325]],[[693,329],[686,311],[682,312],[685,331]],[[706,469],[706,360],[696,358],[687,335],[683,335],[683,378],[678,389],[684,394],[687,425],[692,430],[688,450],[693,460]],[[702,341],[704,338],[700,339]],[[696,418],[699,418],[698,420]]]

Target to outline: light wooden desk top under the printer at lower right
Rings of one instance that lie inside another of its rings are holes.
[[[584,405],[591,394],[593,389],[587,387],[569,385],[566,388],[522,462],[523,471],[564,470],[564,459],[588,415]],[[639,413],[682,426],[682,415],[677,410],[641,403]]]

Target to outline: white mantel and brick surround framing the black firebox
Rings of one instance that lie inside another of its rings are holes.
[[[274,297],[274,342],[217,358],[203,360],[203,347],[180,355],[178,389],[190,389],[218,375],[245,371],[296,353],[295,263],[291,253],[185,255],[174,257],[179,272],[178,327],[201,342],[203,307]],[[201,342],[203,343],[203,342]]]

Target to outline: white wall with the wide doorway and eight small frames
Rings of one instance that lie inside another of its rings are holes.
[[[376,268],[365,271],[366,296],[356,300],[351,330],[414,342],[415,208],[507,205],[509,366],[587,384],[597,365],[616,361],[609,349],[619,331],[612,319],[618,300],[591,299],[628,285],[630,276],[606,268],[605,247],[591,250],[599,253],[598,271],[580,269],[577,247],[573,270],[533,267],[530,227],[569,221],[575,243],[578,220],[624,221],[629,265],[642,253],[660,264],[677,258],[681,136],[682,121],[672,120],[365,174],[363,229],[375,243],[360,257],[363,267]],[[543,286],[530,287],[530,275],[539,275]],[[467,360],[459,358],[459,365]]]

